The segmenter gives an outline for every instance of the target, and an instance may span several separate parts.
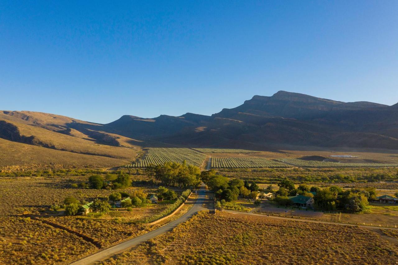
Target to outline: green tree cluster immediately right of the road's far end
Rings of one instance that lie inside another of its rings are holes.
[[[229,179],[222,175],[217,175],[215,170],[204,171],[201,175],[203,182],[215,192],[218,201],[236,201],[238,196],[246,198],[250,196],[256,199],[259,187],[256,183],[243,182],[241,179]]]

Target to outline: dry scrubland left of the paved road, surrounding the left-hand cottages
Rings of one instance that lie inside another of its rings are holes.
[[[78,236],[34,220],[33,216],[51,220],[82,232],[107,246],[121,239],[148,231],[140,224],[157,214],[166,204],[150,205],[132,212],[119,210],[100,218],[94,216],[54,216],[48,208],[61,204],[65,197],[90,201],[106,197],[113,191],[70,188],[71,183],[86,181],[87,176],[0,179],[0,263],[68,263],[97,249]],[[123,189],[131,193],[133,189]],[[146,192],[152,191],[146,189]],[[32,218],[31,218],[32,217]],[[153,229],[153,228],[150,228]]]

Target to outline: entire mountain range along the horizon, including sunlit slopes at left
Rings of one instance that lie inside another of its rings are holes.
[[[266,150],[288,144],[396,150],[398,104],[346,103],[279,91],[272,96],[255,95],[211,116],[186,113],[148,119],[124,115],[108,124],[48,113],[0,111],[3,155],[4,150],[21,144],[95,156],[94,160],[107,165],[131,161],[140,148],[148,146]]]

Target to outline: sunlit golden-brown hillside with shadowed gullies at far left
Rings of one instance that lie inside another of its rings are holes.
[[[140,147],[130,142],[138,141],[72,128],[78,124],[97,129],[102,126],[47,113],[0,112],[0,167],[30,168],[37,164],[109,168],[135,160]]]

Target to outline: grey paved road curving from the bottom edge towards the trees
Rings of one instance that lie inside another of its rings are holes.
[[[93,264],[98,261],[102,261],[108,257],[111,257],[112,255],[120,253],[126,249],[129,249],[133,246],[136,246],[142,242],[150,240],[151,238],[154,238],[160,234],[171,231],[178,224],[187,221],[189,218],[191,218],[197,212],[206,209],[202,206],[203,203],[207,202],[207,200],[205,198],[206,190],[205,190],[204,184],[202,185],[201,189],[199,190],[198,195],[199,195],[198,199],[195,201],[195,204],[193,205],[193,207],[191,209],[189,209],[188,212],[186,212],[183,216],[181,216],[177,220],[174,220],[173,222],[170,222],[169,224],[166,224],[165,226],[162,226],[156,230],[153,230],[153,231],[143,234],[141,236],[137,236],[136,238],[132,238],[130,240],[121,242],[117,245],[114,245],[114,246],[108,247],[106,249],[103,249],[101,251],[98,251],[92,255],[89,255],[87,257],[79,259],[78,261],[75,261],[74,263],[71,263],[71,264],[73,264],[73,265]]]

